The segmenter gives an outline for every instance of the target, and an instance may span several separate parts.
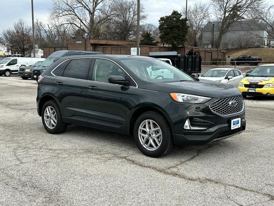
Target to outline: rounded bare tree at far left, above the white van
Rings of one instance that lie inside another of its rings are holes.
[[[4,29],[2,33],[6,45],[13,52],[25,56],[25,53],[31,49],[31,27],[23,19],[19,19],[13,24],[13,28]]]

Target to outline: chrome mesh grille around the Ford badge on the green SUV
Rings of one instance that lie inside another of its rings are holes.
[[[236,101],[237,104],[232,106],[229,104],[231,101]],[[243,111],[243,107],[244,105],[242,95],[219,98],[209,105],[209,108],[212,112],[222,116],[237,114]]]

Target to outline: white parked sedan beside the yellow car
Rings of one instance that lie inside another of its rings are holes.
[[[210,69],[199,77],[199,79],[222,82],[235,87],[238,86],[243,78],[244,76],[240,70],[231,68]]]

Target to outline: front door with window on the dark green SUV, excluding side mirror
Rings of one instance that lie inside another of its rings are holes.
[[[86,113],[88,125],[99,129],[125,133],[128,86],[108,83],[110,75],[129,76],[118,64],[105,58],[95,58],[86,82]]]

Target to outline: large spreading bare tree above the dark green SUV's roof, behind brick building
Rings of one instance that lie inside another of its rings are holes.
[[[98,26],[110,17],[110,0],[52,0],[52,19],[61,19],[97,38]]]

